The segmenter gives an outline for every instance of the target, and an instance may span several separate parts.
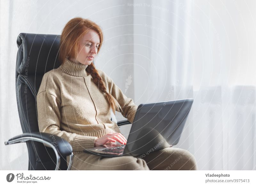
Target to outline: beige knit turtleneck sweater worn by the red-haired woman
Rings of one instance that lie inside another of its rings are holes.
[[[112,111],[105,93],[92,81],[86,67],[66,60],[59,68],[44,74],[36,97],[40,132],[62,137],[73,151],[94,147],[97,137],[120,132],[111,121]],[[122,115],[132,122],[138,106],[110,77],[98,71],[107,91],[120,104]]]

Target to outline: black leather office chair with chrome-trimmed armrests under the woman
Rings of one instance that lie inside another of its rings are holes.
[[[27,143],[28,170],[69,170],[72,165],[71,145],[59,136],[40,133],[36,112],[36,95],[43,75],[60,66],[59,44],[60,35],[20,33],[17,38],[16,98],[23,134],[9,139],[5,145]],[[117,123],[126,124],[131,123]]]

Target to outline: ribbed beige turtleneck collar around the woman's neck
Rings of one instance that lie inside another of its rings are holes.
[[[67,74],[73,76],[87,76],[89,73],[86,72],[86,68],[88,65],[83,65],[81,63],[75,63],[70,61],[69,59],[65,59],[65,62],[60,65],[60,69],[66,72]]]

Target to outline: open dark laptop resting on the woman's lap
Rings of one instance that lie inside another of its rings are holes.
[[[85,153],[102,157],[147,154],[176,145],[194,99],[140,104],[135,113],[127,143],[109,143],[85,149]]]

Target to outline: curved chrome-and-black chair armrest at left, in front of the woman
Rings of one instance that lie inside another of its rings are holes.
[[[9,139],[7,142],[4,142],[4,144],[9,145],[14,143],[22,143],[29,140],[44,143],[45,146],[51,147],[53,149],[57,158],[55,170],[58,170],[58,168],[60,167],[60,155],[62,157],[70,156],[68,170],[71,168],[73,158],[72,146],[70,145],[70,143],[68,143],[66,140],[62,139],[59,136],[44,132],[23,133]]]

